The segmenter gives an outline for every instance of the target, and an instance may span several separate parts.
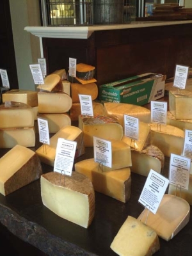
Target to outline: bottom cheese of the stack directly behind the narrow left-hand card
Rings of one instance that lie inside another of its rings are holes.
[[[70,116],[67,113],[38,114],[38,117],[47,120],[49,133],[56,133],[60,131],[61,128],[71,125]]]

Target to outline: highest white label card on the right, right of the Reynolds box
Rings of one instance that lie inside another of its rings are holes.
[[[176,65],[173,86],[178,87],[180,89],[185,89],[186,82],[188,79],[188,72],[189,67]]]

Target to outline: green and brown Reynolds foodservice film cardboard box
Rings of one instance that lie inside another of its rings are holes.
[[[113,83],[102,84],[99,88],[101,102],[122,102],[145,105],[164,96],[166,76],[146,73]]]

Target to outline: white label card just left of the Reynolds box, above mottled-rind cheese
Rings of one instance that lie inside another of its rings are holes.
[[[79,94],[81,104],[81,115],[93,116],[93,102],[91,95]]]

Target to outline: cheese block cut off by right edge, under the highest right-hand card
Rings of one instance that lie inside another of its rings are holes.
[[[170,90],[169,109],[176,119],[192,119],[192,92]]]

